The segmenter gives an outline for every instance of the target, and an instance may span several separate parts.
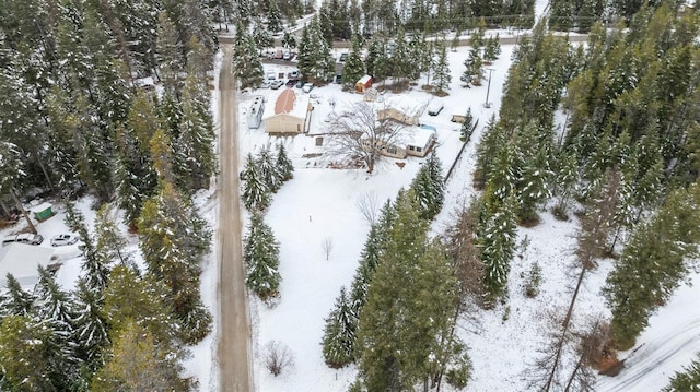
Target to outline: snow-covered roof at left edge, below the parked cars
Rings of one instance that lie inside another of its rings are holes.
[[[0,290],[5,289],[7,275],[12,274],[22,288],[33,289],[38,282],[37,268],[51,263],[54,249],[26,243],[8,243],[0,248]]]

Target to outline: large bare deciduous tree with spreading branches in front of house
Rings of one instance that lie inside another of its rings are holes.
[[[393,118],[380,119],[373,106],[355,103],[338,116],[332,116],[326,127],[327,153],[343,159],[362,162],[368,173],[374,171],[382,151],[401,144],[406,124]]]

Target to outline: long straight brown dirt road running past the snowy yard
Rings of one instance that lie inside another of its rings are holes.
[[[233,46],[221,45],[219,74],[219,384],[221,392],[253,392],[250,323],[241,241],[236,81]]]

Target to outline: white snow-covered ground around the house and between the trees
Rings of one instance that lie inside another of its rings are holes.
[[[439,233],[451,222],[451,213],[460,203],[474,194],[471,171],[475,163],[475,144],[490,116],[498,114],[502,84],[510,64],[513,47],[503,47],[503,52],[491,68],[490,108],[485,108],[487,85],[463,88],[459,86],[462,62],[467,48],[450,54],[452,80],[450,95],[443,98],[445,107],[436,117],[423,115],[422,123],[434,126],[439,132],[438,155],[446,171],[453,164],[460,143],[458,126],[450,122],[453,114],[463,115],[471,107],[479,126],[471,142],[467,145],[462,159],[455,167],[455,174],[447,183],[447,200],[443,212],[433,224]],[[291,69],[291,68],[290,68]],[[285,88],[285,87],[282,87]],[[272,94],[270,90],[260,91]],[[256,94],[256,93],[254,93]],[[335,110],[341,111],[347,105],[361,99],[360,95],[340,91],[339,85],[317,87],[312,133],[323,131],[323,118],[334,110],[329,104],[336,102]],[[214,94],[215,95],[215,94]],[[241,96],[241,115],[245,109],[245,99]],[[400,99],[401,105],[425,106],[431,96],[419,86],[395,97],[387,93],[384,99]],[[215,100],[213,107],[218,107]],[[271,104],[271,103],[268,103]],[[254,378],[257,391],[346,391],[355,376],[353,367],[332,370],[325,366],[320,338],[324,318],[330,311],[341,286],[348,286],[358,264],[360,251],[364,245],[369,225],[355,203],[365,194],[374,194],[377,200],[393,199],[401,187],[407,187],[422,159],[408,158],[400,168],[394,161],[385,159],[377,171],[368,176],[363,170],[338,170],[327,168],[327,162],[320,157],[306,158],[305,154],[322,153],[323,147],[315,145],[315,138],[298,135],[295,138],[268,138],[262,129],[247,130],[244,116],[240,116],[240,156],[255,152],[262,145],[284,143],[292,158],[294,178],[287,182],[273,197],[266,214],[266,222],[272,227],[281,245],[282,275],[281,300],[269,308],[255,298],[250,298],[253,320],[253,359]],[[243,165],[243,162],[241,162]],[[215,187],[215,186],[214,186]],[[215,188],[197,197],[202,214],[215,226],[218,219],[214,195]],[[94,211],[91,200],[82,200],[78,207],[83,211],[89,226],[92,226]],[[63,212],[52,218],[38,223],[37,228],[45,238],[67,231]],[[512,262],[510,275],[510,300],[506,307],[494,310],[478,310],[459,322],[458,333],[469,345],[469,355],[474,364],[474,379],[467,391],[525,391],[525,371],[537,349],[547,340],[551,331],[548,314],[561,313],[568,305],[575,277],[570,265],[573,263],[576,222],[559,222],[551,214],[542,212],[542,222],[533,228],[518,229],[518,242],[529,239],[529,246],[521,250],[521,256]],[[19,225],[22,225],[20,223]],[[247,223],[246,223],[247,225]],[[2,235],[16,230],[12,227],[2,230]],[[138,256],[137,239],[130,236],[130,249]],[[322,243],[329,239],[332,250],[328,260]],[[40,245],[50,247],[48,240]],[[215,246],[212,249],[217,249]],[[63,266],[58,272],[59,282],[67,288],[72,287],[80,272],[80,258],[75,249],[57,249],[66,254]],[[73,252],[72,254],[70,252]],[[534,299],[522,295],[523,278],[530,264],[538,261],[544,273],[541,293]],[[201,278],[202,296],[212,313],[217,314],[217,274],[215,252],[203,263]],[[610,271],[609,261],[602,261],[596,271],[585,280],[583,290],[574,310],[574,322],[582,323],[590,316],[609,314],[605,310],[599,289]],[[698,274],[689,281],[698,282]],[[650,321],[648,330],[640,336],[637,352],[621,353],[628,358],[626,369],[616,377],[599,377],[598,391],[658,391],[666,385],[668,377],[689,364],[700,352],[700,307],[695,301],[700,297],[698,286],[682,286],[673,299]],[[187,376],[197,377],[200,391],[217,390],[215,341],[214,334],[196,347],[191,347],[192,357],[186,363]],[[278,341],[289,347],[294,355],[294,367],[279,377],[272,377],[260,361],[261,348],[270,341]]]

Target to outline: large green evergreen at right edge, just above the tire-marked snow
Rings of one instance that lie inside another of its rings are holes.
[[[700,243],[699,195],[697,186],[669,194],[654,216],[637,226],[608,275],[604,295],[612,310],[615,347],[632,347],[649,317],[687,275],[686,258],[696,256]]]

